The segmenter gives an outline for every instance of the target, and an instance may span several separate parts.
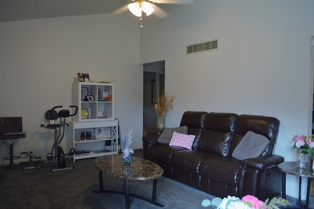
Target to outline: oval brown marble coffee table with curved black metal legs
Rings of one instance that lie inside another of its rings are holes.
[[[99,191],[96,193],[118,193],[124,194],[126,198],[126,208],[130,208],[129,196],[144,200],[159,207],[162,204],[156,202],[157,178],[163,174],[162,168],[154,162],[139,157],[131,157],[131,163],[125,165],[122,162],[121,155],[110,155],[97,157],[94,160],[95,167],[99,170]],[[103,173],[124,179],[125,191],[108,191],[104,190]],[[129,180],[153,180],[152,199],[141,195],[129,193]]]

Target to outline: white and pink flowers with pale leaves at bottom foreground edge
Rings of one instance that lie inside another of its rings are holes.
[[[214,209],[279,209],[278,206],[286,207],[290,205],[289,201],[282,197],[274,197],[270,201],[267,198],[265,202],[262,202],[257,197],[252,195],[245,195],[242,199],[238,197],[215,197],[211,201],[203,200],[202,206],[211,206]]]

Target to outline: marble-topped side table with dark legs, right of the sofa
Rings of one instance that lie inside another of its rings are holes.
[[[299,177],[299,198],[298,198],[297,205],[299,205],[300,207],[304,206],[304,203],[301,203],[302,177],[307,178],[305,209],[309,209],[311,178],[314,178],[314,172],[312,172],[311,163],[307,162],[305,168],[298,168],[296,166],[295,161],[294,162],[282,162],[278,164],[277,167],[278,167],[278,170],[281,171],[282,173],[282,197],[284,199],[286,199],[286,174]]]

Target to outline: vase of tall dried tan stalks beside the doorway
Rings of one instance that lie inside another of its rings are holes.
[[[165,117],[170,108],[172,108],[175,97],[168,94],[158,94],[157,100],[153,98],[153,108],[157,114],[157,128],[163,130],[165,128]]]

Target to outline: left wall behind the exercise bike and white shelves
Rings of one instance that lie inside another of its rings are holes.
[[[139,65],[139,26],[129,13],[87,15],[0,23],[0,117],[23,117],[25,139],[14,154],[33,151],[46,158],[53,132],[45,112],[72,104],[77,73],[115,83],[115,118],[121,130],[133,126],[132,148],[142,147],[143,67]],[[69,151],[68,134],[62,141]],[[0,164],[9,145],[0,145]]]

